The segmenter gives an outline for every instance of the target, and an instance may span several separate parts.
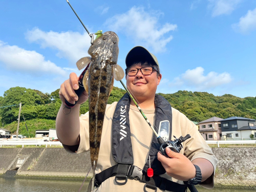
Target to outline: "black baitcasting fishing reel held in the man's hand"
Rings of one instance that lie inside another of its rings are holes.
[[[185,140],[189,139],[191,136],[189,134],[187,134],[185,137],[182,137],[180,136],[180,138],[177,139],[177,137],[174,136],[175,140],[172,141],[164,141],[163,139],[158,139],[158,142],[159,144],[161,144],[160,146],[160,153],[167,157],[167,158],[170,158],[166,152],[165,152],[165,148],[166,147],[169,147],[170,150],[172,150],[173,152],[176,152],[176,153],[180,153],[181,149],[183,148],[182,146],[182,142],[184,142]]]

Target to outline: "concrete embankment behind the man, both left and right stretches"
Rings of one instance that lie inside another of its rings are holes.
[[[219,160],[215,176],[217,186],[256,189],[255,147],[212,148],[212,151]],[[89,152],[73,155],[63,148],[0,148],[2,176],[16,168],[15,177],[77,179],[84,178],[90,167]]]

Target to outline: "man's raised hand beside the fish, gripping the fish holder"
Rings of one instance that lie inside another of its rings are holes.
[[[79,89],[78,85],[78,77],[75,73],[71,73],[69,75],[69,79],[64,81],[59,90],[59,98],[62,101],[62,103],[65,103],[65,99],[70,103],[75,103],[77,101],[77,104],[82,104],[87,101],[88,99],[88,93],[84,91],[78,98],[78,96],[75,93],[75,90]]]

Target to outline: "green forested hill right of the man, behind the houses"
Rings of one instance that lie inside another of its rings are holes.
[[[191,121],[200,122],[211,117],[225,119],[232,116],[256,119],[256,97],[240,98],[230,94],[214,96],[207,92],[191,91],[160,95]]]

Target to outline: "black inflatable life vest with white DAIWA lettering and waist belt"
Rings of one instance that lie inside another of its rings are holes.
[[[136,179],[140,182],[146,183],[146,187],[153,188],[159,187],[162,190],[170,191],[186,191],[187,186],[176,182],[169,181],[160,177],[165,173],[165,169],[161,162],[157,159],[157,153],[159,152],[160,144],[157,141],[157,137],[154,135],[151,143],[149,156],[143,168],[139,168],[133,165],[133,151],[130,131],[130,97],[126,93],[117,103],[116,109],[113,115],[112,121],[112,156],[118,163],[108,169],[103,170],[95,176],[95,185],[99,186],[104,180],[109,177],[115,176],[115,181],[119,185],[123,185],[127,182],[127,178]],[[158,133],[159,127],[162,122],[169,122],[168,125],[168,140],[172,138],[172,107],[170,103],[162,96],[155,96],[155,119],[154,127]],[[166,128],[166,127],[165,127]],[[150,167],[154,170],[154,176],[147,177],[147,169]],[[121,181],[122,182],[121,182]]]

